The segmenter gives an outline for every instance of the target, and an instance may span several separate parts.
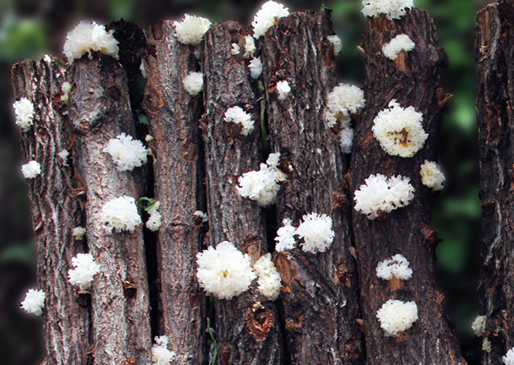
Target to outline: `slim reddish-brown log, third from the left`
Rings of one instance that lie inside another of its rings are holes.
[[[191,97],[182,79],[198,71],[195,47],[175,37],[172,21],[151,27],[145,59],[144,106],[149,118],[155,197],[161,202],[158,231],[160,325],[177,352],[178,364],[201,364],[205,355],[205,296],[196,279],[196,254],[204,231],[196,210],[204,210],[203,155],[198,123],[201,96]]]

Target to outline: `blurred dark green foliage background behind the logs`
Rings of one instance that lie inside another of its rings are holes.
[[[24,58],[59,55],[66,32],[84,19],[108,23],[124,18],[147,29],[161,18],[185,12],[213,23],[228,19],[250,25],[264,1],[254,0],[0,0],[0,362],[40,364],[44,352],[39,317],[19,303],[36,283],[36,255],[25,181],[21,177],[18,129],[14,125],[10,67]],[[290,11],[318,10],[323,1],[282,1]],[[437,279],[469,364],[478,364],[481,342],[470,329],[478,314],[480,199],[478,132],[475,123],[474,17],[487,0],[415,0],[428,10],[448,53],[445,92],[454,97],[442,125],[439,164],[447,181],[433,211],[439,231]],[[363,60],[356,51],[364,17],[360,0],[326,0],[334,29],[343,39],[337,58],[340,81],[363,85]]]

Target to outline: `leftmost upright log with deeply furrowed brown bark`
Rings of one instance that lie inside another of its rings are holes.
[[[25,60],[12,68],[14,97],[26,97],[36,110],[34,125],[20,131],[23,162],[36,160],[41,174],[27,179],[38,253],[38,288],[45,301],[48,364],[90,364],[90,297],[68,281],[71,258],[84,252],[84,241],[72,229],[84,225],[84,212],[74,190],[73,166],[58,152],[73,150],[72,132],[60,100],[66,67],[58,58]],[[71,152],[73,153],[73,152]]]

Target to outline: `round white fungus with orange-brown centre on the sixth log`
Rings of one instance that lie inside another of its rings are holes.
[[[410,158],[423,147],[428,134],[423,129],[423,114],[413,106],[402,108],[395,99],[378,112],[372,127],[380,147],[389,155]]]

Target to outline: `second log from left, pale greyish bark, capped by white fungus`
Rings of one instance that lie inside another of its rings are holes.
[[[151,361],[148,283],[142,227],[109,233],[101,208],[127,195],[138,201],[145,167],[117,171],[108,141],[122,132],[134,135],[126,73],[114,58],[94,55],[75,60],[70,118],[77,133],[75,168],[87,190],[86,223],[90,252],[101,267],[93,281],[95,364],[149,364]]]

